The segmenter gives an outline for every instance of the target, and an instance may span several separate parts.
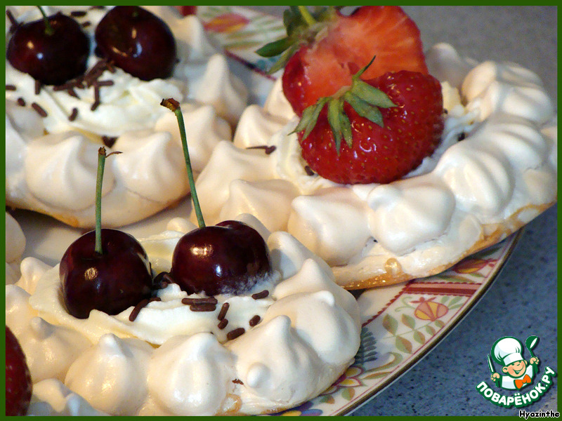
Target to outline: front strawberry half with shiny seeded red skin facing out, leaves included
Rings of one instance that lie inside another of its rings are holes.
[[[347,91],[321,98],[303,112],[295,129],[302,156],[334,182],[392,182],[419,166],[440,141],[440,83],[405,70],[368,81],[360,74]]]

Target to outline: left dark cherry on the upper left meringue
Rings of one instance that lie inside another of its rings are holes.
[[[86,72],[90,40],[79,23],[63,13],[19,25],[8,42],[6,58],[20,72],[45,85],[60,85]]]

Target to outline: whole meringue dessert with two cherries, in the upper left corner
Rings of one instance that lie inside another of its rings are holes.
[[[91,157],[103,144],[123,152],[105,171],[105,225],[173,206],[188,183],[174,118],[157,107],[162,98],[183,105],[196,172],[216,143],[231,140],[247,89],[195,15],[171,6],[45,6],[55,31],[49,36],[37,7],[6,13],[8,206],[93,227]],[[115,27],[139,35],[123,40]],[[29,39],[37,51],[25,48]]]

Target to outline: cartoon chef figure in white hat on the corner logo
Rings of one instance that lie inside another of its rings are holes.
[[[523,344],[520,340],[506,336],[494,342],[492,352],[488,355],[488,368],[496,386],[502,389],[519,390],[532,385],[539,365],[539,359],[532,353],[532,349],[538,342],[537,336],[530,336],[525,341],[530,353],[529,361],[523,358]],[[496,372],[492,359],[502,367],[501,374]]]

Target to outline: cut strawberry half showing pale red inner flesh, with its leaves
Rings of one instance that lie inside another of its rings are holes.
[[[290,6],[283,21],[287,37],[257,53],[280,54],[283,93],[299,116],[318,98],[351,84],[351,76],[377,56],[363,79],[410,70],[427,74],[419,29],[398,6],[362,6],[351,15],[337,8]]]

